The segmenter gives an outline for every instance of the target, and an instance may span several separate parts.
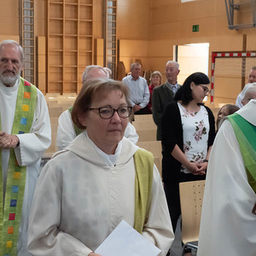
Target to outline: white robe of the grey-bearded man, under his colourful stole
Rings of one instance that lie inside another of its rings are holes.
[[[15,107],[20,79],[14,87],[6,87],[0,82],[0,111],[2,131],[11,134],[15,119]],[[31,255],[27,253],[27,225],[30,207],[37,178],[40,171],[40,161],[44,151],[49,148],[51,131],[49,112],[44,95],[38,90],[37,105],[35,108],[30,133],[16,134],[20,139],[20,146],[15,148],[15,155],[20,166],[26,166],[26,187],[20,220],[20,234],[17,245],[18,256]],[[2,170],[4,191],[6,186],[9,164],[9,149],[2,149]]]

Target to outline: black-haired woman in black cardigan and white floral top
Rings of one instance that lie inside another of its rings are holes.
[[[209,87],[206,74],[191,74],[162,117],[162,173],[173,230],[181,213],[178,183],[206,178],[215,137],[212,111],[202,104]]]

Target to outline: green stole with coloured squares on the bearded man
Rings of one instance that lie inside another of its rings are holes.
[[[36,86],[20,78],[12,134],[22,134],[30,132],[36,103]],[[0,157],[2,158],[2,153],[0,154]],[[15,256],[17,254],[20,218],[26,185],[26,166],[18,165],[15,157],[15,149],[11,148],[9,153],[9,169],[3,211],[3,171],[2,159],[0,160],[0,254],[4,256]]]

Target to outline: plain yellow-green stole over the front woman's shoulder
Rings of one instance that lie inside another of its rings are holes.
[[[146,150],[138,149],[134,154],[134,164],[136,176],[133,228],[142,234],[144,223],[147,221],[146,214],[153,180],[154,156]]]

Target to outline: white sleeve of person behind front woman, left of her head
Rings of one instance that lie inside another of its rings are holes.
[[[76,137],[71,114],[67,109],[61,113],[58,120],[56,145],[59,150],[66,148]]]

